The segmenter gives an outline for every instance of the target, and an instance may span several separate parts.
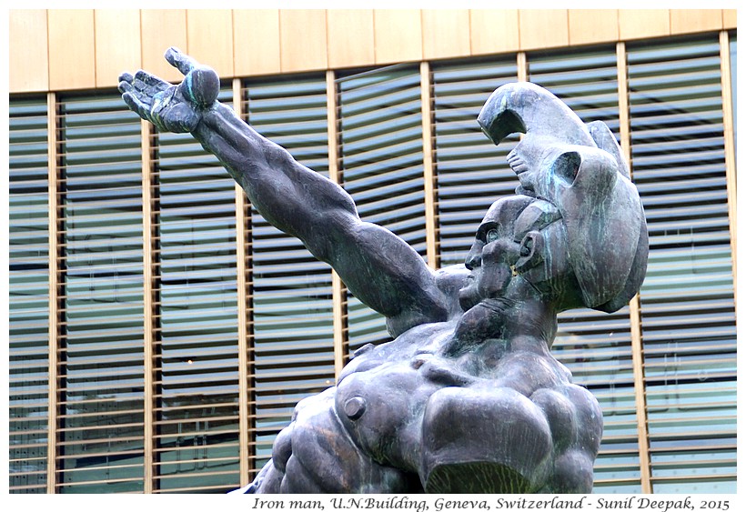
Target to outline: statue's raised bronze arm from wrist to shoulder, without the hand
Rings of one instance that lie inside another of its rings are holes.
[[[387,229],[360,221],[341,186],[300,165],[226,105],[204,114],[192,135],[226,166],[267,222],[330,264],[350,291],[388,317],[393,332],[445,319],[422,258]]]

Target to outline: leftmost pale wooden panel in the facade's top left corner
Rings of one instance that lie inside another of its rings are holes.
[[[10,92],[46,91],[49,86],[46,11],[13,10],[8,17]]]

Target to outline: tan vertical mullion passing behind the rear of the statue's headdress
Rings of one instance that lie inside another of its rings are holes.
[[[620,139],[622,155],[630,166],[632,178],[630,91],[627,77],[627,46],[617,43],[617,86],[619,88]],[[630,336],[632,348],[632,375],[635,389],[635,417],[637,417],[638,447],[640,448],[640,487],[645,494],[652,493],[650,482],[650,435],[646,403],[644,346],[642,343],[642,318],[640,293],[630,300]]]

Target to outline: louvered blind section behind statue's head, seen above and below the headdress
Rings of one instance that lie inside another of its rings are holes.
[[[557,95],[585,123],[603,121],[619,140],[617,55],[613,46],[585,52],[529,54],[529,81]],[[594,466],[597,492],[640,492],[640,456],[632,375],[630,310],[611,315],[574,309],[559,315],[552,352],[588,387],[604,413]]]

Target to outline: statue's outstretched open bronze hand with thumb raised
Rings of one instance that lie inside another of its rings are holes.
[[[126,105],[162,132],[191,132],[202,112],[215,104],[220,88],[217,73],[199,65],[176,48],[168,48],[166,61],[176,67],[184,81],[171,85],[146,71],[119,76],[119,92]]]

